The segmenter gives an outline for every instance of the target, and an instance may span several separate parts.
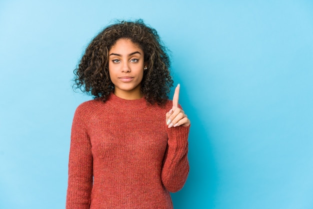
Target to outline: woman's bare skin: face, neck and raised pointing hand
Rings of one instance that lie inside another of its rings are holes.
[[[121,38],[108,54],[108,71],[114,84],[114,94],[123,99],[142,98],[141,80],[146,65],[143,61],[143,50],[130,39]],[[178,107],[179,88],[178,84],[173,95],[172,108],[166,113],[168,128],[190,125],[187,115]]]

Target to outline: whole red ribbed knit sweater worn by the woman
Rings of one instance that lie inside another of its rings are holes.
[[[66,208],[172,208],[189,165],[189,127],[165,124],[171,109],[111,94],[74,114]]]

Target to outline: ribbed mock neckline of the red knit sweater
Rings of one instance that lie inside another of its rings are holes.
[[[124,99],[116,96],[114,93],[110,93],[107,101],[114,105],[114,107],[127,108],[127,109],[143,109],[147,107],[147,102],[142,96],[138,99]]]

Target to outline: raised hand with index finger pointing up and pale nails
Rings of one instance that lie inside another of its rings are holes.
[[[184,113],[182,109],[178,107],[178,98],[179,98],[179,88],[180,85],[178,84],[175,88],[175,92],[173,95],[173,106],[172,108],[166,113],[166,124],[168,127],[176,127],[176,126],[188,126],[190,125],[190,120],[188,119],[187,115]]]

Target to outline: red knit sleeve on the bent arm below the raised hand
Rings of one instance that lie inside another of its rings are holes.
[[[167,128],[167,148],[163,160],[161,179],[163,185],[170,192],[176,192],[184,185],[188,172],[189,163],[188,133],[189,126],[177,126]]]

